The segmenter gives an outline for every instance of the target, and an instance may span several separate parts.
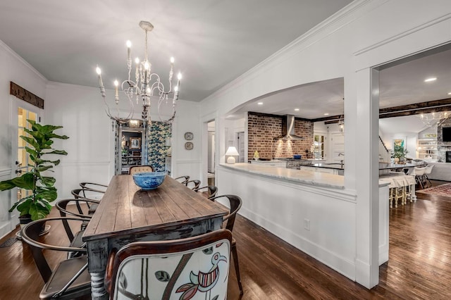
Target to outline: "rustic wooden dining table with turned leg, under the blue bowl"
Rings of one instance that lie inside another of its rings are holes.
[[[106,262],[113,249],[131,242],[180,239],[218,230],[228,209],[166,175],[144,191],[132,175],[112,178],[82,237],[87,245],[92,299],[108,299]]]

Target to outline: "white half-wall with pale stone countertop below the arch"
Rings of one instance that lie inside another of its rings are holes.
[[[220,164],[216,176],[221,194],[241,197],[240,215],[356,279],[357,196],[344,176],[264,163]],[[379,264],[388,261],[388,185],[379,181]]]

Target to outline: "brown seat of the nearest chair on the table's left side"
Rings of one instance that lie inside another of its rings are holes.
[[[68,283],[68,278],[73,277],[83,265],[86,265],[86,263],[86,256],[61,261],[61,263],[56,266],[49,281],[42,288],[41,293],[39,294],[40,299],[51,299],[56,292],[60,291]],[[67,289],[67,292],[70,292],[70,296],[73,296],[74,298],[78,297],[78,292],[80,292],[80,296],[82,296],[83,294],[86,294],[85,289],[87,285],[91,285],[91,275],[89,275],[87,269],[85,269]]]

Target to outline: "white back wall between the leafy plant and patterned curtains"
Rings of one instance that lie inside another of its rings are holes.
[[[54,144],[68,152],[58,157],[54,174],[58,199],[73,198],[70,191],[80,182],[108,185],[114,175],[114,132],[99,89],[50,82],[46,97],[46,123],[63,126],[58,133],[69,137]]]

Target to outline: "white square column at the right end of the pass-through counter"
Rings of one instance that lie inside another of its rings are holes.
[[[378,71],[366,68],[357,72],[355,90],[356,281],[370,289],[379,281]]]

